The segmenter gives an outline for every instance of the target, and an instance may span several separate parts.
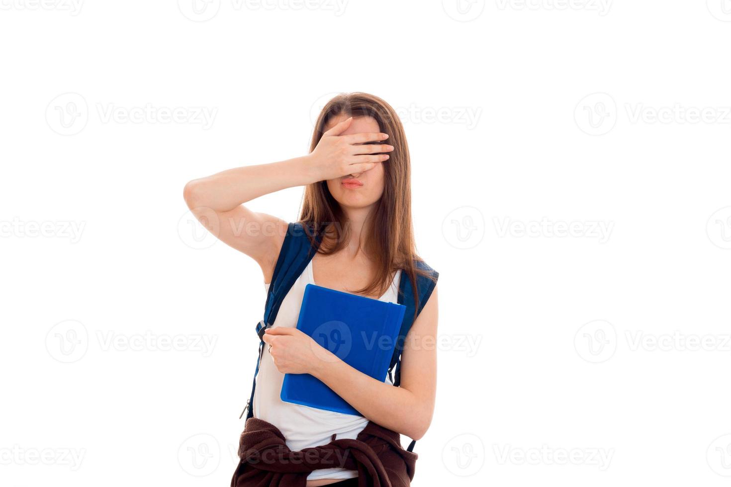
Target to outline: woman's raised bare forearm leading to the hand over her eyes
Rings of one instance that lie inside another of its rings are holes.
[[[185,187],[185,199],[191,207],[207,207],[226,212],[240,204],[294,186],[316,182],[311,156],[287,161],[244,166],[192,180]]]

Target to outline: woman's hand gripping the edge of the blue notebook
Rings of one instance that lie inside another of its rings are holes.
[[[323,363],[338,360],[311,337],[296,328],[277,326],[268,328],[264,342],[271,345],[269,353],[277,370],[283,374],[312,374]]]

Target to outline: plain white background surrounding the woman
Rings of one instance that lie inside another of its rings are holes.
[[[366,91],[441,272],[414,485],[726,486],[731,3],[289,1],[0,1],[0,483],[228,485],[265,295],[183,185]]]

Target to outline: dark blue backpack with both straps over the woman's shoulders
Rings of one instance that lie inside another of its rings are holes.
[[[308,230],[311,232],[311,227],[308,226]],[[257,334],[259,335],[259,358],[257,358],[257,368],[254,371],[254,381],[251,385],[251,396],[246,401],[246,407],[239,416],[242,418],[246,413],[246,419],[251,418],[254,415],[254,408],[251,407],[251,403],[254,402],[254,390],[257,387],[257,373],[259,373],[259,365],[262,359],[262,353],[264,351],[264,331],[273,325],[276,320],[276,315],[279,312],[279,307],[284,301],[284,297],[287,296],[289,289],[298,280],[298,277],[307,267],[307,264],[312,260],[317,248],[322,243],[322,232],[317,232],[315,236],[315,244],[312,245],[310,238],[306,233],[306,228],[303,223],[289,223],[287,228],[287,234],[284,236],[284,243],[281,246],[279,257],[274,266],[274,273],[272,280],[269,285],[269,291],[267,293],[267,301],[264,307],[264,319],[257,323]],[[425,264],[424,261],[414,261],[414,265],[419,269],[423,269],[428,272],[429,275],[433,276],[433,279],[424,275],[417,274],[417,291],[419,296],[419,310],[416,312],[418,315],[423,310],[424,305],[431,296],[431,292],[436,286],[436,279],[439,277],[439,272],[436,272],[430,266]],[[406,341],[406,335],[409,334],[414,323],[414,288],[411,280],[403,272],[401,273],[401,280],[398,284],[398,304],[404,304],[406,306],[406,312],[404,312],[404,321],[401,323],[401,330],[398,332],[398,340],[396,340],[396,347],[393,350],[393,356],[388,367],[388,377],[394,386],[399,386],[401,383],[401,351],[404,349],[404,342]],[[393,372],[393,376],[392,376]],[[414,449],[415,441],[409,444],[409,451]]]

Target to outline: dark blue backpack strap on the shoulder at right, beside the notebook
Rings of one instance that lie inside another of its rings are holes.
[[[401,384],[401,351],[404,350],[404,342],[406,342],[406,336],[409,334],[409,330],[414,324],[414,314],[416,317],[424,309],[424,305],[429,300],[432,291],[436,287],[436,280],[439,279],[439,272],[436,272],[424,261],[414,261],[414,265],[417,269],[422,269],[427,272],[427,275],[417,274],[416,286],[414,290],[409,276],[405,272],[401,272],[401,279],[398,283],[398,304],[404,304],[406,306],[406,312],[404,312],[404,321],[401,322],[401,330],[398,331],[398,339],[396,340],[396,347],[393,350],[393,356],[391,357],[391,363],[388,367],[388,377],[391,378],[391,372],[395,369],[395,375],[393,376],[392,382],[394,386]],[[419,309],[414,313],[416,307],[414,303],[414,295],[419,297]]]

